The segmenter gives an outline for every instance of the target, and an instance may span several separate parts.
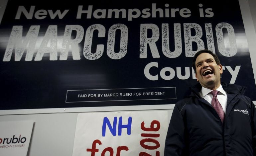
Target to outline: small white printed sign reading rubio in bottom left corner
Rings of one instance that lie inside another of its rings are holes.
[[[0,155],[27,156],[33,121],[0,122]]]

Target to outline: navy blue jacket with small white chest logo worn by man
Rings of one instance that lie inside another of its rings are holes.
[[[256,144],[256,114],[245,88],[221,83],[227,92],[222,124],[214,108],[192,88],[190,97],[179,101],[169,124],[165,156],[253,156]]]

